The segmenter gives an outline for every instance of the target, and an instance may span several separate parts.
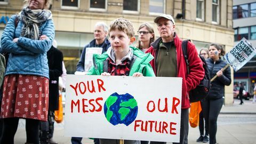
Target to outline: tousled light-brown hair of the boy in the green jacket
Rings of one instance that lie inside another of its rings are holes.
[[[124,31],[124,33],[130,38],[133,37],[135,34],[132,22],[124,18],[117,18],[114,21],[111,21],[109,33],[110,31],[116,29],[118,29],[119,31]]]

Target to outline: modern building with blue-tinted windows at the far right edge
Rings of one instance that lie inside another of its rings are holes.
[[[235,43],[245,37],[256,46],[256,0],[233,1],[233,28]],[[245,90],[253,94],[253,86],[256,83],[256,56],[234,73],[234,85],[239,83],[243,83]]]

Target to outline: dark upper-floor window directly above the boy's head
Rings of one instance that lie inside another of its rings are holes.
[[[138,3],[138,1],[139,0],[133,0],[133,1],[124,0],[124,3],[123,3],[124,12],[129,12],[129,13],[139,12],[139,3]]]

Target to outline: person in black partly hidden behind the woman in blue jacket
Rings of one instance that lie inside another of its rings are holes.
[[[39,133],[41,144],[57,144],[53,141],[54,111],[59,109],[59,76],[62,75],[63,54],[57,49],[57,42],[53,40],[51,49],[47,52],[49,65],[49,109],[48,119],[41,122]]]

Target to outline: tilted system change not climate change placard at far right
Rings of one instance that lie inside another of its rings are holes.
[[[224,58],[237,71],[250,61],[255,54],[255,47],[247,39],[242,38],[231,51],[224,55]]]

